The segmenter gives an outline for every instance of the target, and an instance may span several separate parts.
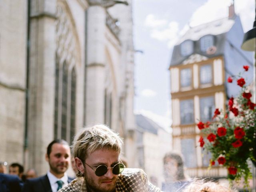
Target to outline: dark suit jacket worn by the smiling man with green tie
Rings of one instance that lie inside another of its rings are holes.
[[[68,177],[68,183],[74,178]],[[52,192],[50,181],[47,174],[35,179],[26,180],[22,192]]]

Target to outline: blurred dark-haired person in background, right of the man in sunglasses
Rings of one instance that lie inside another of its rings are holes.
[[[184,174],[184,161],[180,154],[168,152],[164,156],[164,179],[162,190],[176,192],[188,184],[188,176]]]

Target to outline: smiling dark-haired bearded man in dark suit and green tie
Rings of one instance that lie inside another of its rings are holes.
[[[45,155],[50,169],[47,174],[26,180],[22,192],[57,192],[73,178],[67,176],[70,164],[70,147],[65,140],[53,140]]]

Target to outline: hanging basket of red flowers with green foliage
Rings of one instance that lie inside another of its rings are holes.
[[[249,66],[244,66],[247,71]],[[228,78],[228,83],[236,80],[241,92],[237,98],[230,98],[226,111],[216,108],[212,122],[199,122],[201,130],[200,147],[212,154],[210,167],[218,161],[228,169],[228,179],[240,182],[244,178],[244,187],[249,187],[252,178],[250,161],[256,164],[256,127],[255,104],[252,93],[245,87],[241,75]],[[206,137],[206,138],[204,138]]]

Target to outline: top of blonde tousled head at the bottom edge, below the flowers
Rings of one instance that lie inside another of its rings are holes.
[[[220,182],[194,179],[182,192],[235,192]]]

